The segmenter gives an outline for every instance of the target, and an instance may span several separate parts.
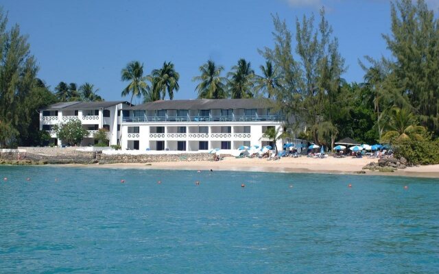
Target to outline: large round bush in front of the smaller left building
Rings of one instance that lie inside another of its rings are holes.
[[[54,125],[56,137],[69,145],[80,145],[81,141],[88,136],[87,129],[82,127],[79,120],[71,120],[67,123]]]

